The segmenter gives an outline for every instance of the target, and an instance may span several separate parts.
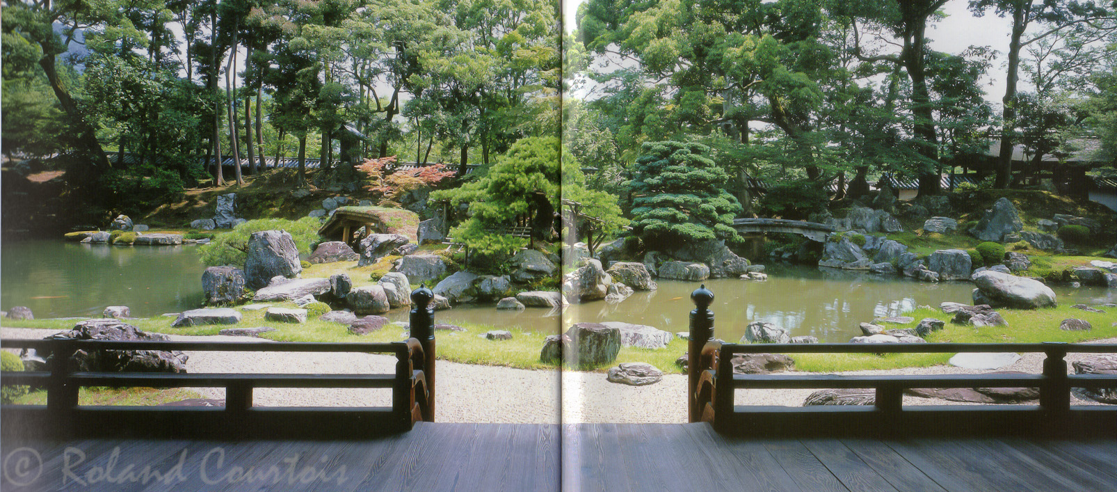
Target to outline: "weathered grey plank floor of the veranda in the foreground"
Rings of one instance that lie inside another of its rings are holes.
[[[365,441],[9,437],[0,447],[4,491],[1117,490],[1114,439],[764,439],[706,424],[420,423]],[[147,465],[173,483],[137,483]],[[238,474],[248,469],[255,480]]]

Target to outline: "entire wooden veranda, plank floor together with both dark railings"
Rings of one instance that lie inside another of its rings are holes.
[[[0,408],[3,490],[13,491],[1107,491],[1117,490],[1117,408],[1070,405],[1072,352],[1115,344],[738,346],[714,337],[712,292],[691,299],[689,424],[442,424],[435,407],[432,293],[412,293],[411,339],[394,343],[4,340],[50,370],[45,406]],[[75,371],[76,350],[386,352],[389,375]],[[734,375],[747,352],[1043,352],[1041,375]],[[226,407],[87,407],[82,386],[225,387]],[[1038,387],[1039,406],[905,408],[905,388]],[[257,408],[257,387],[376,387],[390,408]],[[737,407],[734,391],[872,388],[865,407]]]

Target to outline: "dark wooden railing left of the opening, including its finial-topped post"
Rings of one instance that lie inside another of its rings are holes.
[[[4,435],[346,438],[410,429],[435,420],[433,293],[411,293],[411,338],[389,343],[2,340],[10,349],[49,354],[49,370],[4,372],[3,386],[47,390],[46,405],[4,405]],[[395,370],[366,373],[170,373],[77,371],[78,351],[360,352],[395,356]],[[82,387],[225,388],[225,407],[85,406]],[[255,388],[384,388],[391,407],[256,407]]]

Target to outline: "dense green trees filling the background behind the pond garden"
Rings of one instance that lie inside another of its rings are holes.
[[[1008,22],[1003,46],[934,50],[952,2]],[[525,138],[561,138],[548,155],[592,168],[579,180],[626,212],[650,189],[640,160],[653,142],[705,154],[698,168],[708,160],[741,206],[715,216],[803,214],[833,183],[857,197],[882,173],[935,195],[942,173],[997,144],[981,186],[1044,186],[1013,167],[1014,146],[1035,162],[1089,146],[1091,173],[1117,162],[1117,2],[589,0],[573,31],[561,12],[556,0],[9,1],[3,153],[57,154],[68,193],[121,211],[240,183],[265,155],[297,159],[303,187],[305,159],[318,179],[392,155],[464,171]],[[1003,94],[985,93],[990,76]],[[231,176],[204,164],[225,158]],[[779,192],[755,201],[750,179]]]

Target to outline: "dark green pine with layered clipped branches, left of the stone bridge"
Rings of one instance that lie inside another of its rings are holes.
[[[651,249],[695,240],[737,239],[737,199],[725,191],[726,172],[705,157],[708,148],[674,141],[646,143],[629,189],[632,233]]]

